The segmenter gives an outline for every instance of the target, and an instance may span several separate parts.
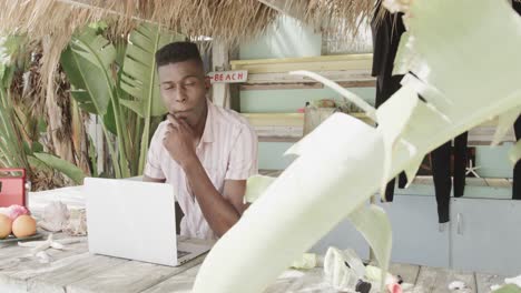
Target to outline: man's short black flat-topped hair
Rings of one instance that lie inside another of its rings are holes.
[[[188,60],[195,60],[203,65],[199,49],[193,42],[171,42],[156,52],[157,68]]]

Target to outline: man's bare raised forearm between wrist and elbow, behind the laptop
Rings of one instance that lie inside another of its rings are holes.
[[[191,161],[184,170],[203,215],[220,238],[239,220],[239,213],[215,189],[199,160]]]

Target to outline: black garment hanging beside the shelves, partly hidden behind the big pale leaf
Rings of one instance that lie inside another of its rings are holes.
[[[373,70],[372,75],[376,77],[376,99],[375,107],[379,108],[400,88],[403,75],[392,75],[394,58],[396,57],[400,38],[405,31],[402,21],[403,13],[391,14],[385,12],[383,19],[377,20],[381,9],[381,1],[377,2],[371,21],[373,33]],[[407,179],[405,173],[399,176],[399,188],[405,188]],[[385,189],[385,199],[393,201],[395,180],[391,180]]]

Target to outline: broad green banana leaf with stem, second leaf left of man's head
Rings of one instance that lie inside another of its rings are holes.
[[[109,143],[109,152],[116,176],[125,178],[130,175],[125,148],[129,139],[122,128],[125,117],[120,111],[118,90],[111,73],[115,60],[116,48],[91,28],[85,28],[81,33],[73,36],[61,55],[63,70],[75,88],[72,97],[79,107],[104,118],[104,133],[108,142],[111,141],[108,131],[116,134],[118,153],[112,143]]]

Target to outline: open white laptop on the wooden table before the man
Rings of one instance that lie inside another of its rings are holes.
[[[90,253],[177,266],[212,247],[178,241],[168,183],[86,178],[83,193]]]

